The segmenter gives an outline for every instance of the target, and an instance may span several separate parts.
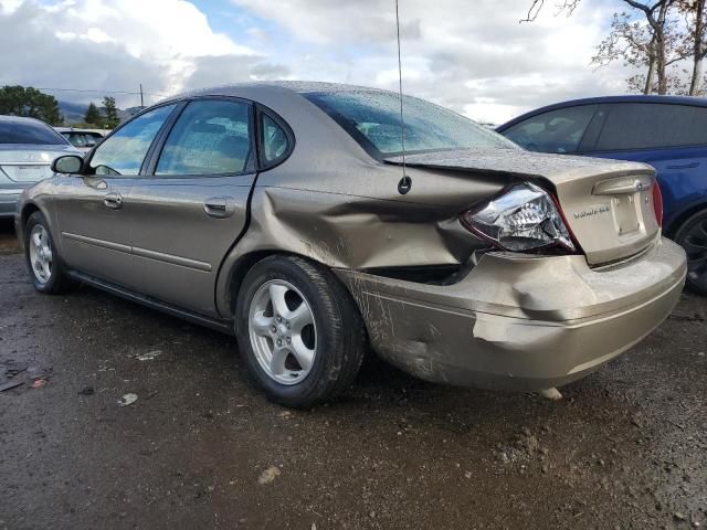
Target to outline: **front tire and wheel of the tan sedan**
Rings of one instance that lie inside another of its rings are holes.
[[[24,257],[32,284],[40,293],[57,295],[75,287],[75,283],[66,275],[42,212],[30,215],[24,225]]]

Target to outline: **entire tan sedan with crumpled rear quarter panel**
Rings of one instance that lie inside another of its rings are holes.
[[[421,99],[261,83],[167,99],[22,197],[41,293],[83,282],[238,337],[271,399],[413,375],[537,390],[673,309],[685,254],[642,163],[526,152]],[[594,190],[594,193],[592,193]],[[656,211],[657,210],[657,211]]]

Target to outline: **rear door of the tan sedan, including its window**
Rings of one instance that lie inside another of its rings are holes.
[[[253,106],[198,98],[163,135],[126,200],[139,290],[215,315],[219,266],[246,222],[256,176]]]

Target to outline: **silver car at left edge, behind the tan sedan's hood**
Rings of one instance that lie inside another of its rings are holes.
[[[0,116],[0,219],[12,219],[20,193],[53,174],[52,160],[77,152],[44,121]]]

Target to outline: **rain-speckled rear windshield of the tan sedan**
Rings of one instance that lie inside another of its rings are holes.
[[[347,91],[304,94],[376,157],[401,153],[400,96]],[[452,110],[403,96],[405,152],[517,149],[503,136]]]

